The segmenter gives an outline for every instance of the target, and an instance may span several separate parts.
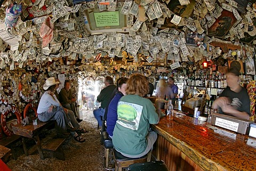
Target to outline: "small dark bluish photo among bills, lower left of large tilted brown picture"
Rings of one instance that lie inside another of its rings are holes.
[[[197,31],[193,32],[187,29],[186,32],[186,44],[197,45],[199,42],[204,41],[205,34],[199,34]]]

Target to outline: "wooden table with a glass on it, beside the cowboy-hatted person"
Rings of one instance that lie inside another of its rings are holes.
[[[23,149],[25,151],[26,156],[28,156],[28,150],[25,143],[25,137],[33,139],[36,142],[37,150],[41,159],[44,159],[44,153],[41,147],[41,141],[39,139],[39,133],[42,129],[53,125],[54,121],[50,120],[47,122],[42,122],[37,120],[37,125],[34,126],[33,123],[29,123],[29,125],[22,126],[22,124],[13,125],[13,133],[16,135],[20,135],[22,137]]]

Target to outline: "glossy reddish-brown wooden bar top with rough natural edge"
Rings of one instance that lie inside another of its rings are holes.
[[[174,113],[177,113],[174,111]],[[204,170],[256,170],[256,139],[174,114],[152,128]]]

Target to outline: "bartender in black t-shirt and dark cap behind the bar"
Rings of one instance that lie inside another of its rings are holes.
[[[212,108],[218,109],[221,114],[249,119],[250,99],[247,90],[239,85],[239,71],[237,68],[229,69],[227,85],[220,97],[213,102]]]

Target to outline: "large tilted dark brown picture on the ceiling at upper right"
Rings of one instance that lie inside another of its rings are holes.
[[[224,37],[235,22],[236,18],[233,12],[223,10],[220,17],[208,29],[208,36]]]

